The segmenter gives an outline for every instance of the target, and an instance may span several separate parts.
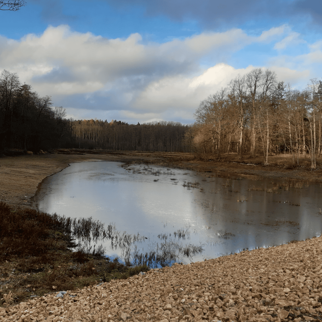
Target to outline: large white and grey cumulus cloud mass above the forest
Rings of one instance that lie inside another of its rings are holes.
[[[250,44],[275,43],[276,48],[285,48],[294,39],[300,41],[287,25],[263,31],[260,36],[231,29],[162,44],[143,43],[138,33],[107,39],[73,32],[67,25],[49,26],[41,35],[28,34],[18,41],[0,37],[0,70],[17,72],[40,95],[51,95],[54,104],[70,110],[73,118],[80,118],[76,110],[82,110],[82,115],[92,111],[91,117],[98,118],[117,114],[140,116],[143,121],[169,120],[171,116],[192,120],[202,99],[253,68],[236,69],[223,63],[201,67],[203,57],[213,55],[220,61]],[[297,59],[317,61],[321,57],[319,42],[310,50],[311,58]],[[289,65],[286,61],[286,56],[284,62],[279,56],[270,65],[286,75],[289,72],[289,77],[307,75],[303,71],[299,74],[292,60]]]

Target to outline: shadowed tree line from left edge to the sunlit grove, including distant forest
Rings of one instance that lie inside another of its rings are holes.
[[[102,148],[160,152],[188,152],[185,132],[178,122],[140,125],[112,120],[73,120],[66,110],[52,107],[16,73],[0,74],[0,150],[18,148],[38,152],[54,148]]]

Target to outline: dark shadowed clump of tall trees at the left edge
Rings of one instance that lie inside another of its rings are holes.
[[[59,146],[67,135],[62,107],[52,108],[50,96],[39,96],[16,73],[0,74],[0,149],[39,151]]]

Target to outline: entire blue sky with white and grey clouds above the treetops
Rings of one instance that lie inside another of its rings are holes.
[[[194,122],[201,100],[261,67],[322,79],[317,0],[26,0],[0,11],[0,71],[74,119]]]

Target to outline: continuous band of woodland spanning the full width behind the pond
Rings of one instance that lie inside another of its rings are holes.
[[[312,169],[322,152],[322,82],[310,80],[305,90],[277,81],[274,72],[253,69],[204,99],[193,125],[155,121],[66,119],[50,96],[40,97],[21,84],[17,74],[0,75],[0,149],[34,152],[53,148],[102,148],[158,152],[194,152],[208,160],[225,153],[268,156],[289,153],[295,165],[309,155]]]

